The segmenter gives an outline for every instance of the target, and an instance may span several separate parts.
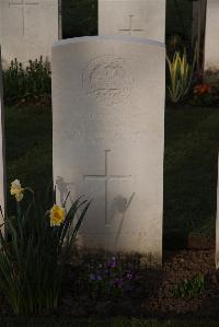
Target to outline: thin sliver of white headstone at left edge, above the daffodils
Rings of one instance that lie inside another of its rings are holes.
[[[3,109],[3,86],[1,68],[1,48],[0,48],[0,206],[2,213],[5,214],[5,148],[4,148],[4,109]],[[3,222],[0,213],[0,224]]]

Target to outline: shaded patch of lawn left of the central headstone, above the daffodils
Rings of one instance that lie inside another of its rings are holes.
[[[51,135],[50,108],[5,108],[8,190],[10,183],[19,178],[44,197],[53,178]],[[14,210],[14,200],[9,194],[8,208],[9,213]]]

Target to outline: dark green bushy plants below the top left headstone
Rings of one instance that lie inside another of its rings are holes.
[[[50,63],[43,60],[30,60],[24,67],[16,59],[3,71],[4,100],[8,103],[33,100],[51,92]]]

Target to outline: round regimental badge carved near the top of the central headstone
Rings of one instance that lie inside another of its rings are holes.
[[[106,106],[123,103],[132,90],[132,74],[123,58],[100,56],[83,72],[83,89]]]

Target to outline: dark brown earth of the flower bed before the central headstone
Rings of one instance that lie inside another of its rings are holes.
[[[219,271],[215,268],[214,249],[164,252],[163,268],[139,272],[134,291],[123,297],[96,297],[79,288],[84,264],[74,261],[68,268],[59,307],[43,312],[46,316],[136,316],[136,317],[219,317]],[[205,287],[196,299],[175,299],[172,291],[185,279],[204,275]],[[0,297],[0,315],[11,316],[5,300]]]

